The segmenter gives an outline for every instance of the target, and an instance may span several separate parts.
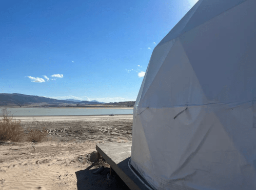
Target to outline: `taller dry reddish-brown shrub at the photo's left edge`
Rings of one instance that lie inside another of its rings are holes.
[[[7,108],[2,109],[2,120],[0,120],[0,141],[20,141],[23,138],[23,128],[21,121],[13,120],[13,116],[9,116]]]

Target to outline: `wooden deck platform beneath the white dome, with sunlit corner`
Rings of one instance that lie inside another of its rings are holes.
[[[131,157],[131,143],[97,144],[96,150],[98,156],[102,156],[108,162],[111,170],[114,170],[130,189],[151,189],[147,181],[142,179],[132,166],[130,166],[131,169],[128,166]]]

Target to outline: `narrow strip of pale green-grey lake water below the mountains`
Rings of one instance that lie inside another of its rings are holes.
[[[0,113],[2,113],[0,108]],[[86,109],[86,108],[7,108],[13,116],[49,116],[49,115],[107,115],[132,114],[132,109]]]

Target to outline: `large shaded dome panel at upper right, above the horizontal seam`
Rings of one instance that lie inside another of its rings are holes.
[[[244,2],[180,36],[208,100],[246,102],[256,97],[253,4]]]

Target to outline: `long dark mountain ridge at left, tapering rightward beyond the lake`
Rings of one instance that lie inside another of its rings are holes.
[[[28,105],[35,103],[48,103],[48,104],[102,104],[94,101],[68,101],[68,100],[56,100],[52,98],[46,97],[38,97],[38,96],[30,96],[21,93],[0,93],[0,106],[5,105]]]

